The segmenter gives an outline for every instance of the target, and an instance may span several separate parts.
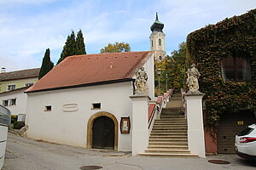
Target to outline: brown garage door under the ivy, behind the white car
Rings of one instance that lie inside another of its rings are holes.
[[[245,127],[255,122],[253,112],[241,111],[239,113],[220,116],[217,129],[217,147],[220,154],[235,153],[235,137]]]

